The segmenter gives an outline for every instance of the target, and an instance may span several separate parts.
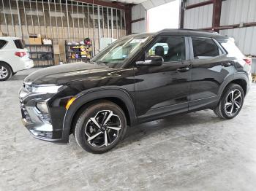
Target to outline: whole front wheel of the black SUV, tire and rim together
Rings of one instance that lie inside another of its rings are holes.
[[[122,109],[110,101],[102,101],[89,105],[80,114],[74,136],[86,151],[104,153],[124,138],[126,130],[127,120]]]

